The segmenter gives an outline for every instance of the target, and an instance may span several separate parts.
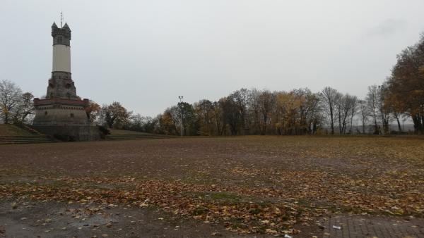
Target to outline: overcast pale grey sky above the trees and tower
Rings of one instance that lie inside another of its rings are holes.
[[[52,70],[50,26],[72,30],[77,94],[154,116],[242,87],[363,97],[424,32],[424,1],[0,0],[0,79],[37,97]]]

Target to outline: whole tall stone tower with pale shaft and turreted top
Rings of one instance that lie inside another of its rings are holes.
[[[33,127],[64,140],[98,139],[97,127],[90,125],[88,99],[76,95],[71,75],[71,29],[52,25],[53,65],[45,99],[34,99]]]

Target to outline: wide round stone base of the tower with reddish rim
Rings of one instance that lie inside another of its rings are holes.
[[[88,99],[34,99],[33,127],[66,142],[102,139],[102,132],[88,120],[89,106]]]

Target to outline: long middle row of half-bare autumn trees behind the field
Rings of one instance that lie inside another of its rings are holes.
[[[360,100],[331,87],[317,93],[240,89],[218,101],[167,108],[153,119],[153,130],[161,134],[183,130],[187,135],[387,134],[391,120],[399,122],[402,115],[386,110],[383,92],[382,86],[371,86],[366,99]]]

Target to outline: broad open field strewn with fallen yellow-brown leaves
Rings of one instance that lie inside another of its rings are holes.
[[[144,149],[128,142],[79,164],[83,154],[58,161],[57,148],[49,163],[4,163],[0,197],[153,206],[240,233],[295,234],[293,225],[330,213],[423,216],[422,140],[276,138],[145,142]],[[122,156],[131,158],[115,159]]]

